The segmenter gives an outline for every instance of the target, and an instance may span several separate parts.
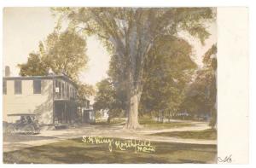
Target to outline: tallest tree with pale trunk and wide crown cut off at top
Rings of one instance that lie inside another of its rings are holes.
[[[203,43],[208,38],[206,20],[210,8],[59,8],[55,14],[69,20],[70,28],[95,34],[119,61],[127,84],[126,128],[136,129],[138,104],[143,91],[143,70],[148,52],[162,35],[189,32]]]

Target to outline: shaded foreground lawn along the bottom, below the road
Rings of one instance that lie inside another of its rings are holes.
[[[88,144],[82,138],[3,153],[3,163],[215,163],[216,145],[151,142],[154,153],[108,150],[108,144]]]

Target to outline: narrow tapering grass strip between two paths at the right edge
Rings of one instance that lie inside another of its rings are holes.
[[[217,130],[208,129],[208,130],[193,130],[193,131],[160,132],[160,133],[155,133],[151,135],[152,136],[173,136],[173,137],[180,137],[185,139],[216,140]]]

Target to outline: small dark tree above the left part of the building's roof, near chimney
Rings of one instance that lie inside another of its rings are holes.
[[[36,53],[30,53],[24,64],[18,64],[20,76],[44,76],[48,74],[49,66]]]

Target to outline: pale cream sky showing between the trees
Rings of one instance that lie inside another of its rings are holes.
[[[9,66],[11,76],[19,76],[17,64],[25,63],[28,54],[38,50],[39,41],[45,40],[53,32],[55,21],[49,8],[3,9],[3,68]],[[192,57],[199,67],[202,65],[202,55],[217,42],[216,23],[208,27],[212,35],[205,45],[201,45],[195,38],[189,38],[187,34],[181,34],[194,47]],[[87,68],[80,73],[80,79],[87,84],[96,84],[108,76],[110,56],[96,37],[87,38],[86,52],[90,61]]]

